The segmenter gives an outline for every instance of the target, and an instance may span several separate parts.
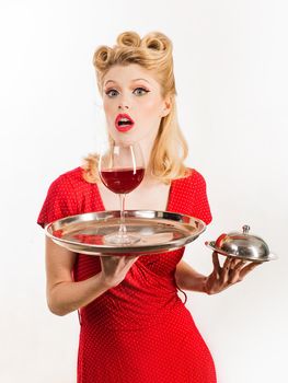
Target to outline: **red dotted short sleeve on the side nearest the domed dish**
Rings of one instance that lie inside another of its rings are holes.
[[[206,181],[197,171],[193,171],[194,198],[192,205],[192,216],[200,219],[206,224],[212,220],[210,206],[207,197]]]

